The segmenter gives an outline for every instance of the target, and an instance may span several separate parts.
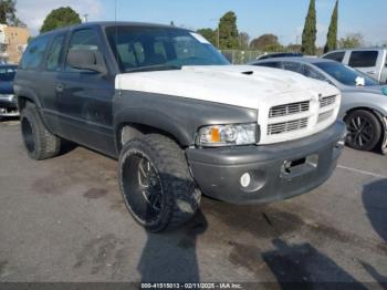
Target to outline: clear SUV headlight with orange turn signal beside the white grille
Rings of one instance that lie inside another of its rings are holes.
[[[258,124],[210,125],[201,127],[196,145],[202,147],[250,145],[258,143]]]

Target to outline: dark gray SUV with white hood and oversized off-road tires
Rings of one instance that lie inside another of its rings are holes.
[[[14,91],[29,155],[53,157],[64,138],[117,158],[127,208],[153,231],[190,219],[201,193],[237,204],[307,193],[332,175],[344,144],[335,87],[230,65],[174,27],[104,22],[42,34]]]

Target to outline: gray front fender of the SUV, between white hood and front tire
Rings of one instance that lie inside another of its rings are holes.
[[[122,124],[147,125],[170,134],[184,147],[195,144],[201,126],[258,122],[257,110],[138,91],[117,92],[113,115],[116,132]]]

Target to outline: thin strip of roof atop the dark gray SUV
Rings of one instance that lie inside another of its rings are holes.
[[[185,28],[178,28],[178,27],[172,27],[172,25],[167,25],[167,24],[158,24],[158,23],[128,22],[128,21],[95,21],[95,22],[87,22],[87,23],[55,29],[55,30],[42,33],[39,37],[50,35],[50,34],[59,33],[59,32],[65,32],[65,31],[72,30],[72,29],[80,29],[80,28],[95,28],[95,27],[107,28],[107,27],[125,27],[125,25],[126,27],[149,27],[149,28],[169,28],[169,29],[187,30]]]

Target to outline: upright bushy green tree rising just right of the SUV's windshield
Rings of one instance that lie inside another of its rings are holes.
[[[239,49],[239,33],[237,15],[234,12],[227,12],[219,21],[219,42],[222,50]]]

